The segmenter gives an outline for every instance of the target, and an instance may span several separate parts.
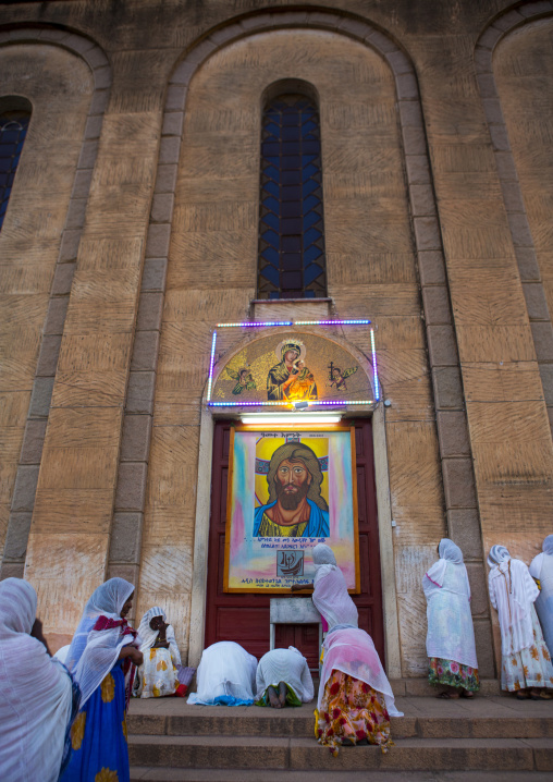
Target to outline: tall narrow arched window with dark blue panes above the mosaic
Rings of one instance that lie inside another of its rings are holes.
[[[268,100],[261,138],[258,298],[327,295],[321,133],[317,101]]]

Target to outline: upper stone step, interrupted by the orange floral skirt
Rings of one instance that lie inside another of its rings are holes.
[[[395,738],[553,738],[553,701],[507,698],[441,701],[398,698],[405,716],[392,718]],[[314,704],[296,709],[188,706],[179,699],[131,704],[131,734],[311,738]]]

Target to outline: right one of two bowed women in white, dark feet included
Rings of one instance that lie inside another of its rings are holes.
[[[259,660],[256,706],[302,706],[314,699],[314,680],[307,660],[295,646],[271,649]]]

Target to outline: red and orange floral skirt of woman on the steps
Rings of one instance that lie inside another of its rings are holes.
[[[383,753],[393,745],[382,693],[342,671],[332,671],[320,711],[316,711],[315,717],[315,735],[334,756],[345,743],[367,740],[369,744],[378,744]]]

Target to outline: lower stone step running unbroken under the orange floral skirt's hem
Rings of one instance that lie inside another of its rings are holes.
[[[553,738],[400,738],[343,747],[334,758],[314,738],[130,735],[131,765],[143,768],[291,771],[553,771]]]

